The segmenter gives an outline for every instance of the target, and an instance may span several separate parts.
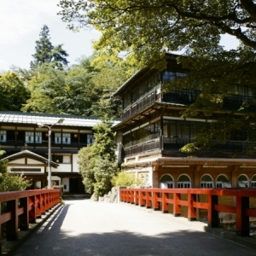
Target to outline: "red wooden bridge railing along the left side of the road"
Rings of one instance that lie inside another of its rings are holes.
[[[6,240],[18,239],[18,230],[28,230],[29,223],[46,214],[51,207],[60,202],[59,189],[37,189],[0,193],[0,242],[2,247],[2,224]]]

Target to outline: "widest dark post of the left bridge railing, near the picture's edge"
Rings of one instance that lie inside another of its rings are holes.
[[[7,212],[11,212],[11,219],[6,223],[6,239],[18,239],[18,199],[7,201]]]

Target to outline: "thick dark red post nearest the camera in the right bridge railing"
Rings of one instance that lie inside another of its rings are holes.
[[[236,235],[250,236],[250,222],[246,215],[249,208],[249,197],[236,196]]]

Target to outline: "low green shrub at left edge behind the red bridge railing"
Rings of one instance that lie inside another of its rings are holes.
[[[0,157],[5,152],[0,149]],[[8,161],[0,160],[0,191],[25,190],[31,186],[31,182],[21,175],[11,175],[7,170]]]

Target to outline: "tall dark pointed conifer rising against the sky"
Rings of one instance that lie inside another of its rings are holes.
[[[63,65],[67,66],[67,52],[62,49],[63,44],[53,46],[49,38],[49,28],[44,25],[39,34],[39,40],[36,41],[36,52],[33,56],[34,60],[31,61],[31,69],[35,69],[44,63],[50,63],[52,67],[63,69]]]

